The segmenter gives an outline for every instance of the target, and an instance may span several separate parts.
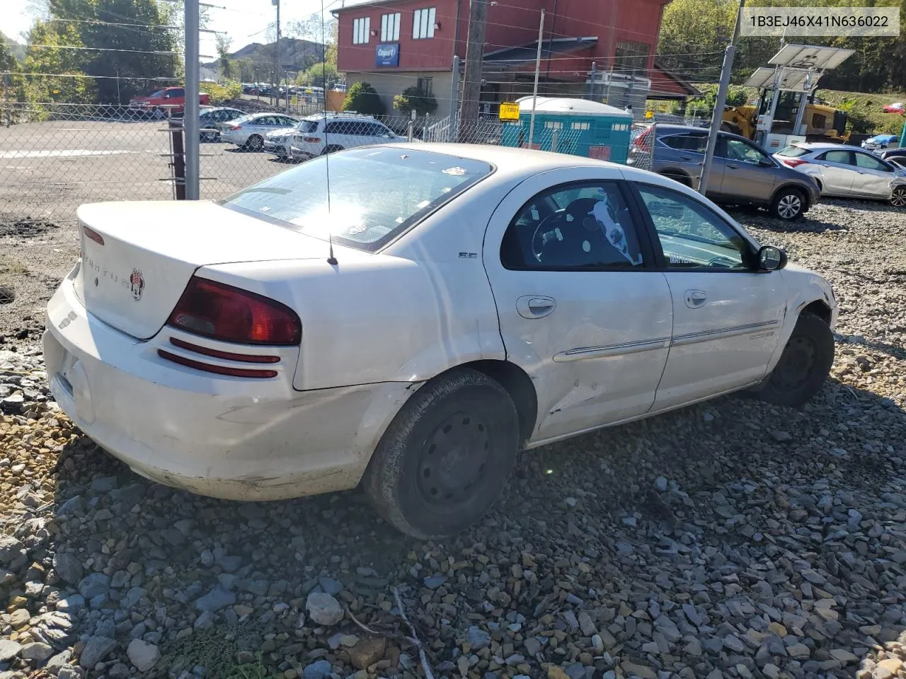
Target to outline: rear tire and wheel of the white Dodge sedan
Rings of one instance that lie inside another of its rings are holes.
[[[453,370],[402,406],[371,456],[364,489],[399,531],[448,537],[487,512],[518,448],[519,417],[506,389],[477,370]]]

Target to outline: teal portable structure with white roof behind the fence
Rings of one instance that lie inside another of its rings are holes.
[[[519,121],[503,126],[503,146],[528,147],[532,97],[518,100]],[[538,97],[534,148],[584,158],[625,163],[629,155],[632,114],[598,101]]]

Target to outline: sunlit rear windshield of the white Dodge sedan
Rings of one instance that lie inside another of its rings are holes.
[[[493,169],[429,151],[357,148],[314,158],[220,205],[374,252]]]

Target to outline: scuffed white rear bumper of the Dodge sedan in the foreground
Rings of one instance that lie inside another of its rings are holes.
[[[286,365],[271,379],[184,368],[157,354],[158,346],[173,349],[161,337],[169,330],[148,341],[115,330],[85,310],[69,278],[48,304],[46,320],[51,392],[76,426],[142,476],[227,500],[354,487],[390,420],[418,387],[299,392],[292,387],[294,360],[275,364]]]

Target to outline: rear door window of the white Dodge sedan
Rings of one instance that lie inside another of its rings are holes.
[[[614,182],[548,189],[532,198],[506,229],[506,269],[589,271],[643,265],[639,235]]]

